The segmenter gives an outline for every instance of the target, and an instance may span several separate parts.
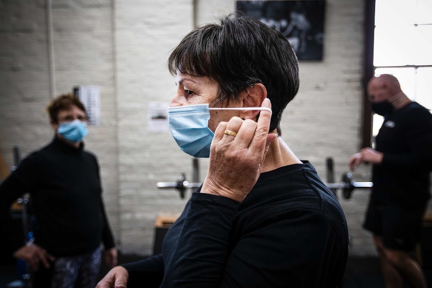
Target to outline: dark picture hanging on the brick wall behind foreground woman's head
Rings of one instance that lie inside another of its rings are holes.
[[[300,60],[322,60],[324,0],[237,1],[237,10],[281,32]]]

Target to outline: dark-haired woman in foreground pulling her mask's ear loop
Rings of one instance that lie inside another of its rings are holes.
[[[171,134],[184,152],[209,157],[208,172],[162,253],[114,267],[97,287],[336,287],[348,256],[344,213],[281,138],[299,88],[288,40],[229,16],[185,36],[168,67]]]

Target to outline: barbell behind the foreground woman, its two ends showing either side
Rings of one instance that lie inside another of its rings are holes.
[[[351,173],[342,174],[340,183],[325,184],[330,190],[342,189],[342,195],[345,199],[351,198],[352,191],[356,188],[371,188],[372,182],[357,182],[352,179]],[[180,174],[176,182],[157,182],[158,188],[175,188],[180,193],[180,197],[184,198],[186,188],[199,188],[201,183],[189,182],[185,179],[184,173]]]

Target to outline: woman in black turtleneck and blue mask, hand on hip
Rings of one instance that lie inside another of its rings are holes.
[[[99,165],[84,150],[87,115],[72,94],[61,95],[47,107],[53,141],[23,159],[0,185],[0,234],[5,249],[26,261],[35,288],[94,287],[101,265],[117,264],[117,249],[102,201]],[[11,204],[31,196],[34,240],[25,243],[12,227]],[[5,239],[4,239],[5,240]]]

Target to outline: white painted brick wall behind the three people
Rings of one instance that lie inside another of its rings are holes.
[[[192,157],[168,131],[149,132],[150,101],[169,102],[175,79],[169,52],[194,26],[233,12],[235,1],[53,1],[56,95],[76,85],[101,87],[102,123],[90,127],[87,148],[101,164],[104,199],[119,248],[148,255],[159,215],[181,212],[186,199],[156,182],[192,180]],[[0,3],[0,151],[13,165],[12,146],[23,156],[48,143],[44,112],[50,100],[45,2]],[[193,7],[195,6],[195,9]],[[195,11],[195,13],[194,13]],[[363,1],[327,0],[324,59],[300,63],[300,91],[282,120],[283,138],[325,180],[333,156],[335,177],[348,171],[360,143]],[[200,178],[208,161],[200,159]],[[362,167],[356,180],[369,180]],[[187,191],[186,198],[190,196]],[[361,228],[368,192],[340,202],[347,215],[351,254],[374,254]]]

